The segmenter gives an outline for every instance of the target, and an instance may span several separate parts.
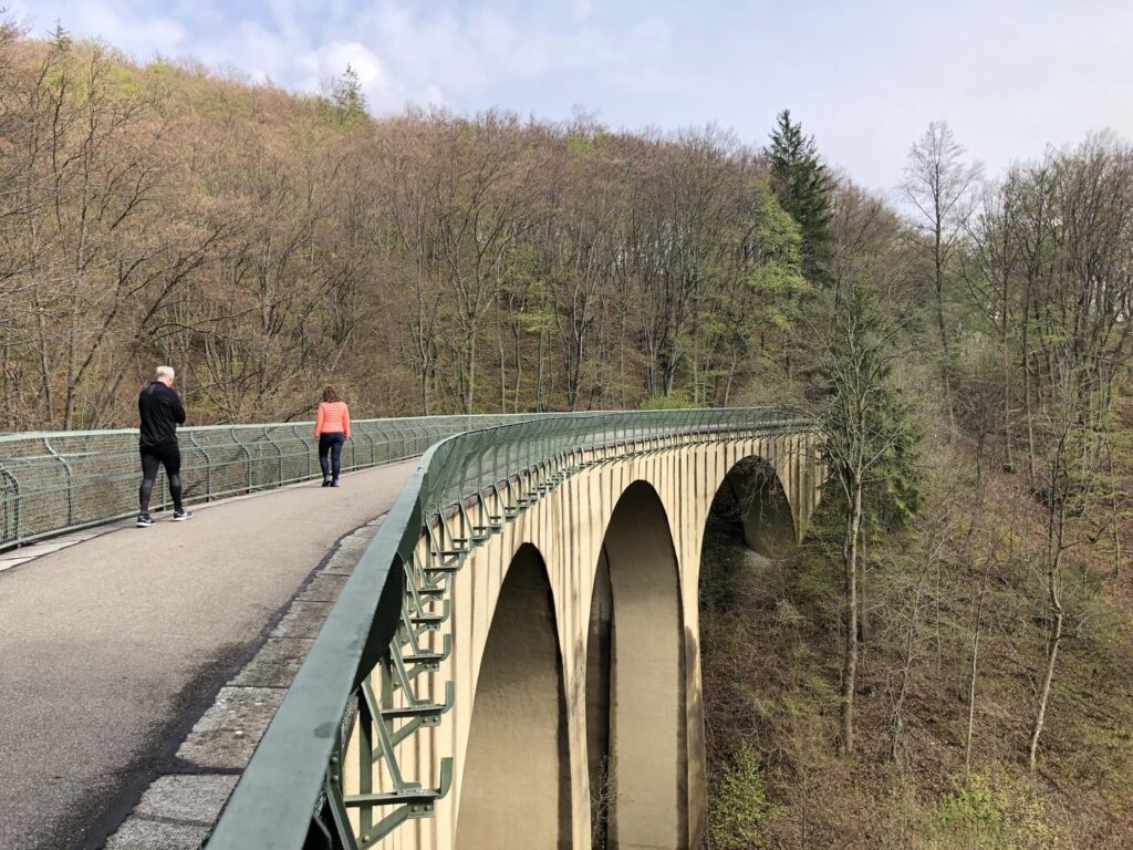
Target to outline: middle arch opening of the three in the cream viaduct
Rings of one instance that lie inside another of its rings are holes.
[[[594,848],[689,847],[684,632],[657,492],[634,482],[603,539],[587,644]]]

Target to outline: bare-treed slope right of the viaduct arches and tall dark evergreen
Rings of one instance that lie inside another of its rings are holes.
[[[709,847],[1133,847],[1133,151],[935,124],[900,195],[833,193],[796,325],[807,542],[709,535]]]

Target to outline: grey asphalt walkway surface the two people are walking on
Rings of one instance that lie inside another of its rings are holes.
[[[165,515],[0,572],[0,849],[101,844],[415,465]]]

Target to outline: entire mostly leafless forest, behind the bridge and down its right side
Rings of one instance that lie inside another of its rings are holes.
[[[863,119],[864,120],[864,119]],[[1133,847],[1133,148],[891,197],[767,138],[406,111],[0,29],[0,430],[781,403],[796,551],[719,505],[710,845]]]

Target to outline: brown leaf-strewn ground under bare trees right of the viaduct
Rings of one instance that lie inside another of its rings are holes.
[[[1114,447],[1111,507],[1130,541],[1133,415]],[[971,447],[927,460],[926,510],[866,551],[849,756],[837,754],[843,595],[830,505],[774,560],[743,545],[727,505],[714,511],[701,579],[709,850],[1133,848],[1133,567],[1111,529],[1067,552],[1068,634],[1031,773],[1045,511],[1019,473],[978,482]]]

